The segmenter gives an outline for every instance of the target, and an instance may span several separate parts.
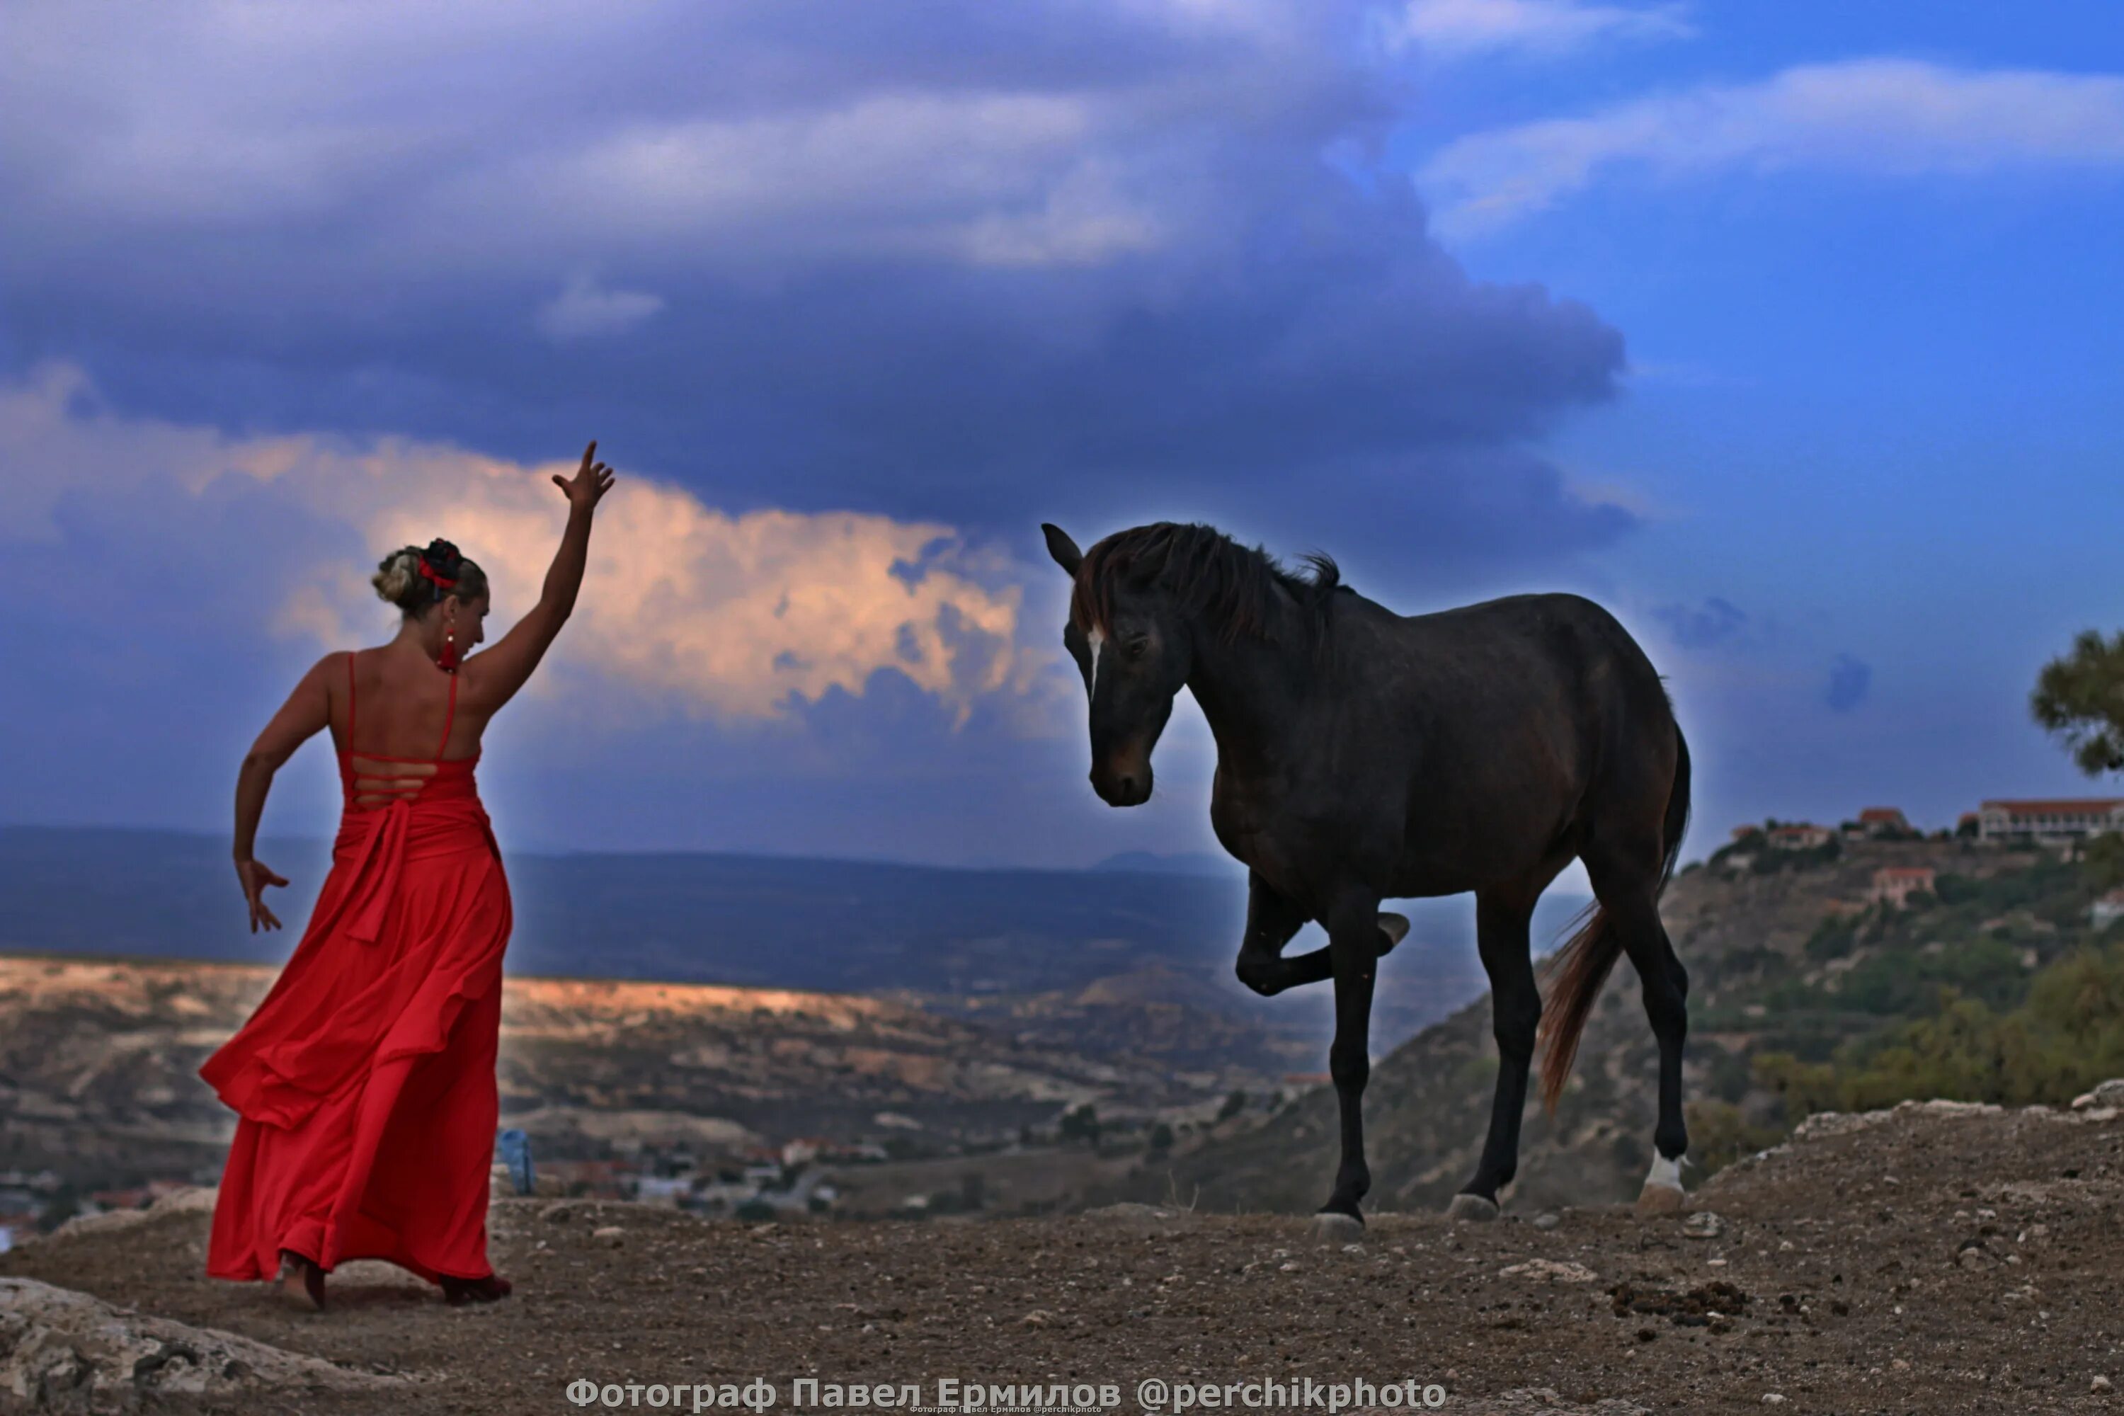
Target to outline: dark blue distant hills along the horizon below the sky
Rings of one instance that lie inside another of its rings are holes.
[[[274,894],[289,921],[282,934],[244,930],[221,836],[0,828],[0,951],[278,964],[308,919],[329,845],[261,841],[259,853],[295,881]],[[1147,860],[1160,866],[952,870],[699,851],[510,853],[510,972],[894,994],[1005,1028],[1026,1013],[1026,1028],[1062,1042],[1049,1030],[1098,1013],[1077,996],[1155,966],[1187,983],[1179,1015],[1168,987],[1130,1017],[1109,1011],[1087,1025],[1145,1044],[1158,1030],[1179,1030],[1177,1017],[1196,1019],[1187,1025],[1202,1044],[1183,1051],[1200,1057],[1209,1038],[1236,1036],[1228,1023],[1238,1021],[1255,1038],[1249,1064],[1289,1055],[1306,1057],[1294,1070],[1325,1066],[1328,989],[1262,1000],[1232,977],[1245,923],[1236,862],[1209,875],[1179,868],[1209,856]],[[1457,909],[1419,911],[1417,936],[1383,972],[1383,1047],[1480,989],[1472,930]]]

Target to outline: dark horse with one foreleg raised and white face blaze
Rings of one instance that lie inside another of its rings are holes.
[[[1334,979],[1342,1163],[1323,1227],[1355,1231],[1372,1182],[1372,974],[1408,930],[1378,902],[1468,890],[1500,1068],[1489,1140],[1453,1214],[1497,1214],[1536,1038],[1555,1106],[1623,953],[1659,1038],[1659,1157],[1638,1204],[1678,1208],[1689,974],[1659,896],[1689,822],[1689,747],[1614,616],[1574,594],[1519,594],[1410,618],[1342,586],[1325,556],[1294,575],[1211,526],[1136,526],[1090,552],[1043,531],[1075,582],[1062,643],[1092,698],[1092,790],[1113,807],[1151,796],[1151,747],[1185,686],[1217,739],[1211,826],[1249,868],[1240,981],[1281,994]],[[1557,955],[1544,1008],[1527,926],[1574,858],[1597,904]],[[1283,957],[1313,919],[1328,947]]]

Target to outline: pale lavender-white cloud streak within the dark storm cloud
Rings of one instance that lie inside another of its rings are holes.
[[[438,244],[501,227],[641,251],[1083,265],[1164,231],[1102,155],[1113,138],[1083,93],[867,93],[539,146],[438,185],[416,225]]]

